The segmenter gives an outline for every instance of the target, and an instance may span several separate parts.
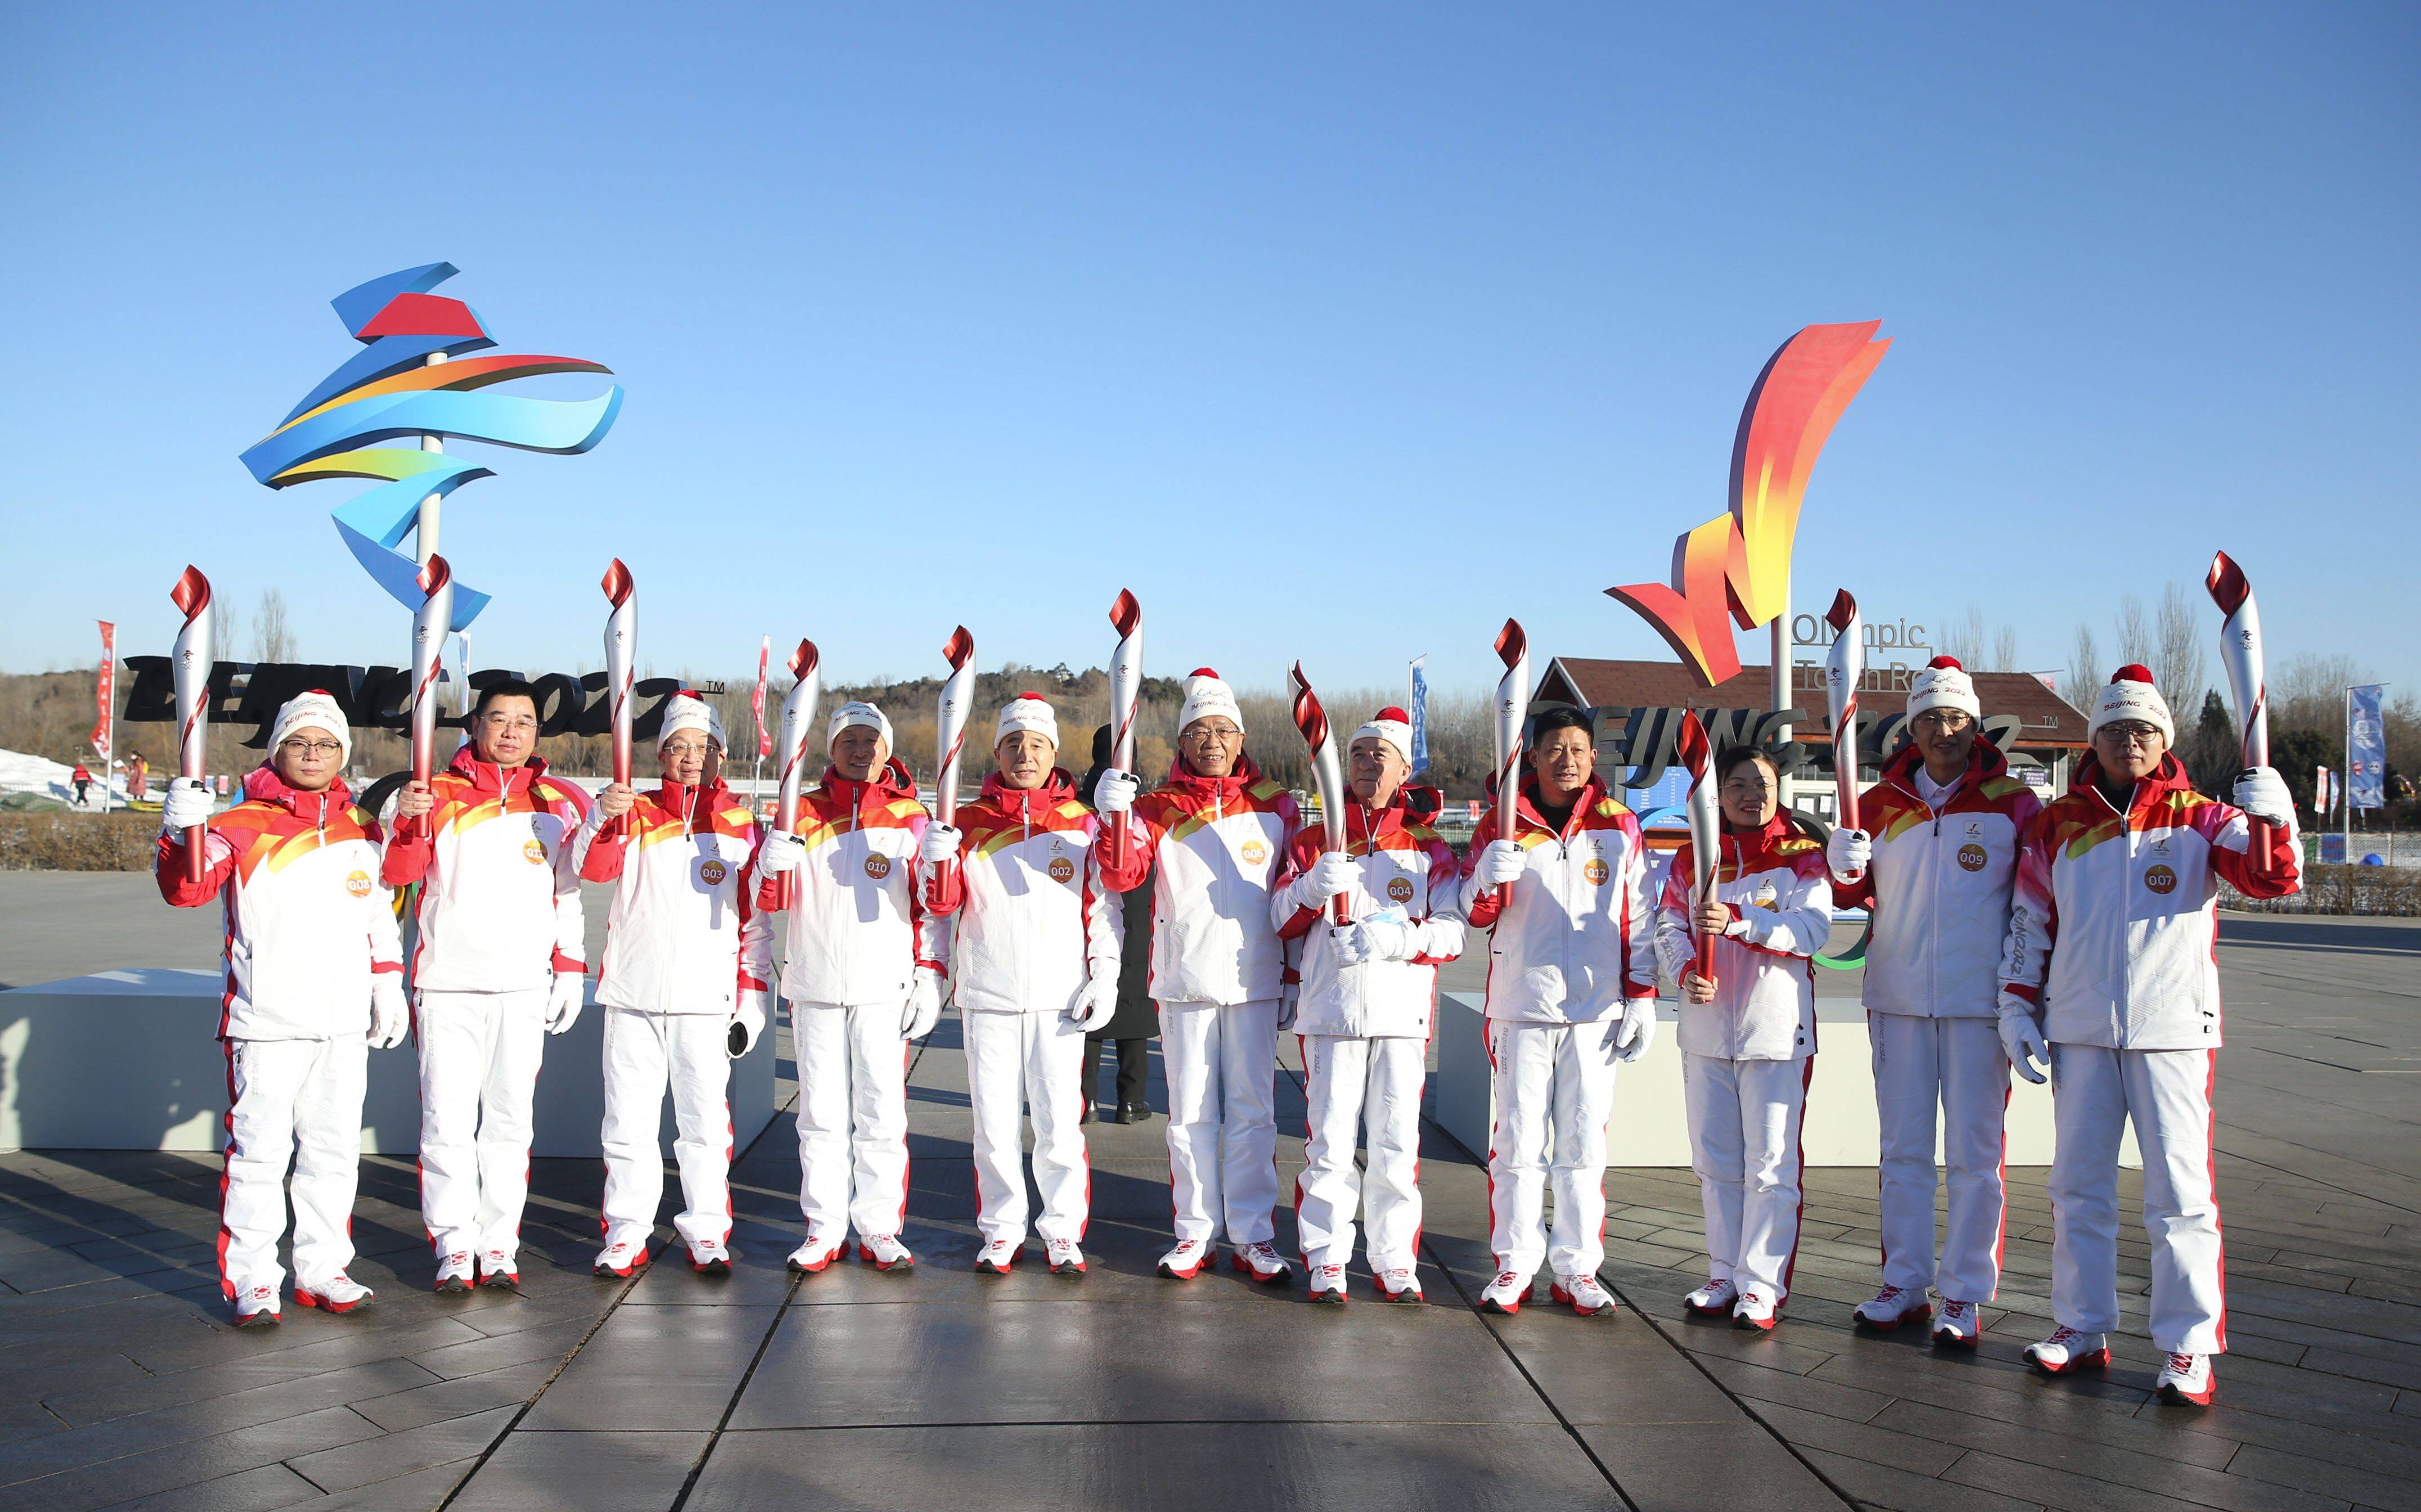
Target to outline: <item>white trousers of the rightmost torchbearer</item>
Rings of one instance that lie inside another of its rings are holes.
[[[2218,1050],[2051,1048],[2051,1316],[2118,1328],[2118,1139],[2135,1120],[2152,1241],[2152,1345],[2227,1352],[2227,1260],[2210,1171]]]

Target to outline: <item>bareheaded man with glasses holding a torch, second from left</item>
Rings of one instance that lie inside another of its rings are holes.
[[[588,798],[535,750],[537,694],[518,677],[487,685],[470,743],[397,791],[387,827],[385,881],[421,885],[421,1222],[438,1292],[521,1285],[537,1064],[581,1011],[571,837]]]

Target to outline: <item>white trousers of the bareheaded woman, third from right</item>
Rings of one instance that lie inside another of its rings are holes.
[[[1816,1057],[1680,1057],[1707,1275],[1782,1302],[1799,1258],[1799,1118]]]

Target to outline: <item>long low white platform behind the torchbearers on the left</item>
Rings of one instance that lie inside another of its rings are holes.
[[[0,992],[0,1149],[220,1149],[228,1062],[218,1014],[220,977],[206,970],[111,970]],[[591,999],[569,1031],[547,1040],[530,1154],[600,1154],[603,1023]],[[765,1033],[731,1067],[736,1149],[772,1123],[772,1062]],[[412,1154],[419,1132],[412,1040],[370,1050],[363,1152]],[[659,1137],[673,1147],[671,1103]]]

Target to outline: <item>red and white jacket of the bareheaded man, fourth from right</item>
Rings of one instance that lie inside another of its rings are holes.
[[[1479,835],[1494,842],[1499,808]],[[1474,839],[1462,861],[1462,917],[1489,929],[1489,1018],[1513,1023],[1598,1023],[1627,997],[1656,997],[1656,910],[1649,905],[1639,818],[1588,779],[1562,830],[1537,813],[1537,777],[1520,786],[1513,839],[1528,871],[1513,910],[1477,876]]]

